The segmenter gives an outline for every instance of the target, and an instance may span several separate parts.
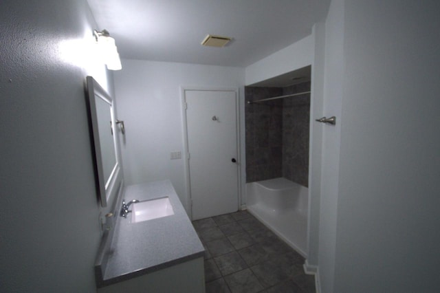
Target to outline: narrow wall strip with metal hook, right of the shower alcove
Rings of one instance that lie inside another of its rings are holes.
[[[336,258],[336,225],[338,222],[340,132],[344,124],[342,94],[344,81],[344,0],[330,3],[325,23],[325,66],[322,116],[336,116],[334,126],[314,122],[315,128],[322,129],[322,144],[318,156],[320,166],[320,226],[319,226],[319,275],[322,292],[333,292]],[[322,115],[322,116],[321,116]],[[314,164],[314,162],[312,162]],[[315,179],[312,179],[315,180]],[[314,194],[316,195],[316,193]],[[316,204],[316,202],[314,201]]]

